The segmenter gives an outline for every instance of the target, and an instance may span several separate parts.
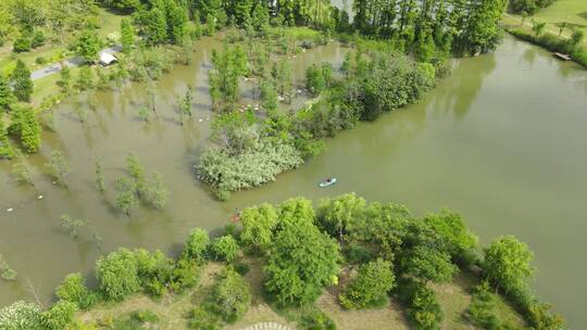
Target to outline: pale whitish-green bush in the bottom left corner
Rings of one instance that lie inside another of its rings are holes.
[[[0,308],[2,330],[46,330],[39,306],[23,301]]]

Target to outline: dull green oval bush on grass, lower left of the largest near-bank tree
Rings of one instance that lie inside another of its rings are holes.
[[[232,267],[223,269],[212,289],[211,309],[221,318],[234,323],[249,309],[249,284]]]

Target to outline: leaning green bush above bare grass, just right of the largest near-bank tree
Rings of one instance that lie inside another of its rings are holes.
[[[387,293],[394,288],[395,280],[391,263],[378,258],[361,266],[357,278],[338,299],[348,309],[383,306],[387,303]]]

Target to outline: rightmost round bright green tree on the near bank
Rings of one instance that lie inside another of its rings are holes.
[[[528,245],[513,236],[500,237],[485,250],[484,271],[489,281],[508,292],[533,277],[533,258]]]

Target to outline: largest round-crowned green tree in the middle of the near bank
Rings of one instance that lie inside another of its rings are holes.
[[[308,221],[286,224],[276,234],[265,288],[283,305],[313,302],[324,285],[338,281],[338,245]]]

